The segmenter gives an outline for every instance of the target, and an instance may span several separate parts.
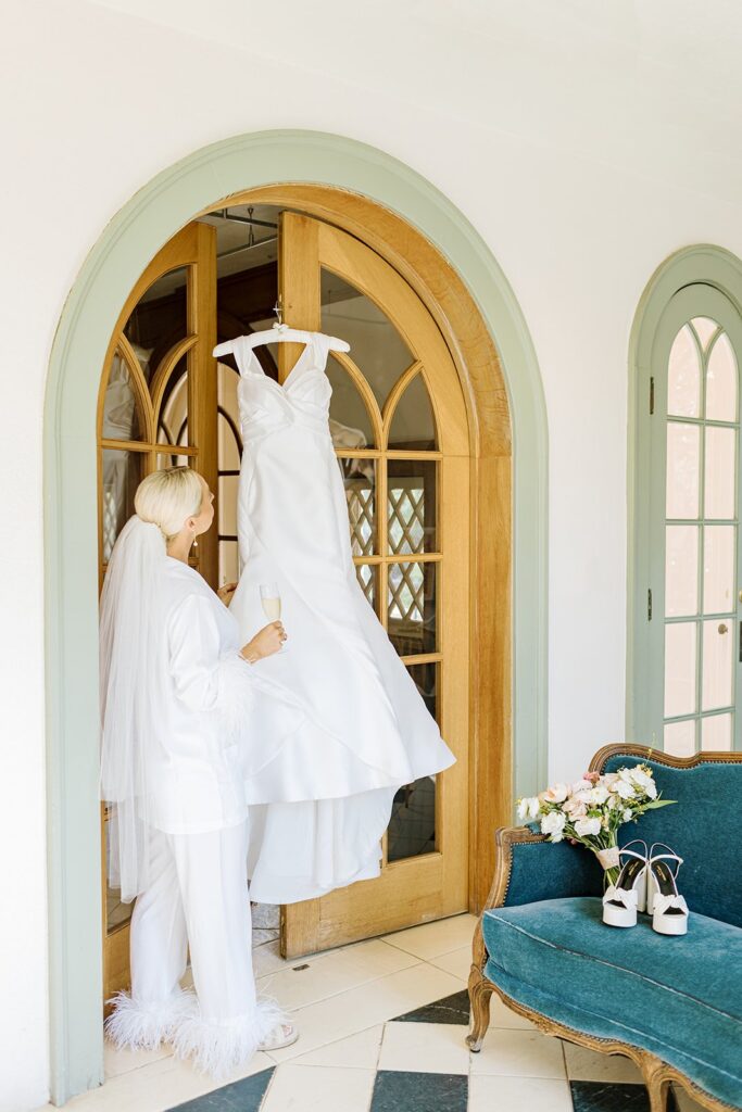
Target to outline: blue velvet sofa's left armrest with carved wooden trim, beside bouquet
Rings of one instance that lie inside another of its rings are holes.
[[[560,896],[594,896],[602,892],[603,871],[595,855],[584,846],[552,843],[532,826],[501,826],[495,831],[495,873],[482,915],[491,907]],[[479,916],[473,963],[484,970],[486,961]]]

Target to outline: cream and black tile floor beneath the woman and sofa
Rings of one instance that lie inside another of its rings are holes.
[[[469,1054],[473,916],[285,962],[275,912],[256,912],[259,991],[294,1013],[299,1041],[256,1054],[219,1088],[165,1046],[108,1048],[106,1084],[70,1112],[649,1112],[627,1059],[543,1035],[496,997],[484,1046]],[[699,1105],[679,1094],[677,1108]]]

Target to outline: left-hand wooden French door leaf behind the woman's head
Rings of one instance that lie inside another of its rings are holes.
[[[98,567],[102,588],[137,485],[158,467],[187,465],[216,490],[216,234],[190,224],[152,259],[127,298],[109,344],[98,396]],[[217,538],[205,534],[191,564],[217,586]],[[106,878],[102,814],[103,999],[129,984],[129,917]]]

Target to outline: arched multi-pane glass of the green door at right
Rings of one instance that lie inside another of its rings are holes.
[[[676,756],[732,745],[738,395],[725,328],[711,314],[687,320],[670,348],[664,415],[664,746]]]

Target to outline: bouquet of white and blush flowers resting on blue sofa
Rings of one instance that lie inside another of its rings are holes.
[[[517,801],[521,822],[540,822],[551,842],[580,843],[595,854],[607,884],[619,878],[619,827],[654,807],[675,800],[661,800],[647,765],[619,772],[586,772],[575,784],[554,784],[545,792]]]

